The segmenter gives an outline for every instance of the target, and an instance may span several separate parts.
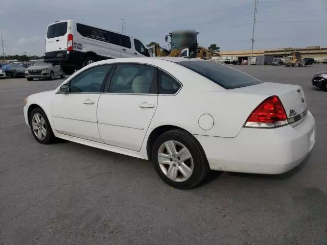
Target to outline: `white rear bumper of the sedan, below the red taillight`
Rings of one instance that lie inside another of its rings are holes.
[[[309,154],[316,141],[316,125],[308,111],[294,128],[242,128],[235,138],[195,135],[213,170],[253,174],[283,174]]]

